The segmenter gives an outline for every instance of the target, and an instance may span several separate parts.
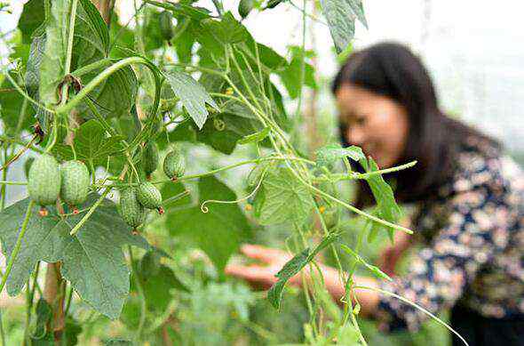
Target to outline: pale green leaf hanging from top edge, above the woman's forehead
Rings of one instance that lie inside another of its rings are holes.
[[[355,15],[351,0],[321,0],[322,12],[328,20],[329,32],[337,52],[342,52],[354,36]]]

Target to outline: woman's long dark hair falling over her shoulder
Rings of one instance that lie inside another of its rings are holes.
[[[439,109],[432,80],[422,61],[402,44],[385,42],[353,52],[340,68],[332,84],[332,92],[344,84],[352,84],[399,102],[409,117],[409,135],[401,159],[396,164],[417,160],[416,168],[390,173],[386,178],[396,181],[395,196],[404,203],[429,199],[435,189],[449,180],[457,148],[466,138],[475,136],[499,148],[499,144],[445,116]],[[346,128],[340,122],[341,140]],[[361,170],[359,165],[357,169]],[[360,184],[357,205],[368,205],[367,184]]]

